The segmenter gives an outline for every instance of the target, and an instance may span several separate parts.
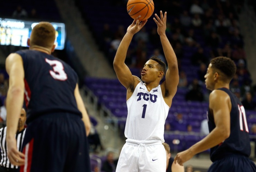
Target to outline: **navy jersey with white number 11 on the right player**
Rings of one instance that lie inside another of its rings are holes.
[[[231,100],[230,111],[230,136],[225,141],[211,148],[210,159],[212,162],[230,154],[240,154],[246,157],[250,155],[249,130],[245,109],[241,101],[227,88],[218,90],[225,91]],[[208,111],[208,125],[211,132],[215,127],[213,114]]]

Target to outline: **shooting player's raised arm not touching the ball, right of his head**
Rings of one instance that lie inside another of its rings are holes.
[[[157,24],[157,33],[160,36],[164,55],[168,64],[168,70],[166,71],[165,75],[166,82],[163,83],[163,86],[165,86],[165,90],[167,91],[167,94],[165,93],[165,95],[166,97],[173,98],[177,91],[177,85],[179,83],[179,70],[176,55],[174,53],[172,45],[170,44],[165,34],[166,14],[167,12],[165,12],[163,16],[163,12],[160,11],[161,18],[159,18],[157,14],[155,14],[156,18],[154,18],[154,21]]]

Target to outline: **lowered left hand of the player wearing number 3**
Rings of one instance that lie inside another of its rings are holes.
[[[17,150],[17,141],[13,137],[11,139],[6,139],[7,143],[7,155],[11,164],[13,165],[24,165],[25,155]]]

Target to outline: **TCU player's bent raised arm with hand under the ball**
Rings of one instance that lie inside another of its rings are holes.
[[[114,70],[117,74],[118,80],[124,85],[127,89],[134,84],[134,78],[131,74],[130,69],[125,64],[126,53],[128,47],[131,43],[131,39],[135,33],[137,33],[143,26],[146,24],[147,20],[139,22],[139,20],[134,20],[132,24],[127,28],[127,32],[122,39],[117,53],[113,62]]]

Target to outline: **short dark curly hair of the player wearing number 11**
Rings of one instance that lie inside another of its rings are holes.
[[[210,61],[213,69],[218,69],[225,74],[226,79],[231,81],[236,73],[236,64],[233,60],[227,57],[216,57]]]

